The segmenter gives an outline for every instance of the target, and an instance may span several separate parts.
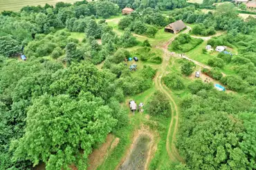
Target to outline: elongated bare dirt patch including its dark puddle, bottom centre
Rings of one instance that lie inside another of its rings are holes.
[[[119,162],[116,170],[148,169],[149,162],[155,151],[154,134],[149,131],[149,127],[141,125],[140,129],[134,132],[133,142]]]

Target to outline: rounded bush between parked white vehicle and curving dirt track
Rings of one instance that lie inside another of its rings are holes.
[[[155,92],[147,105],[147,112],[153,116],[169,117],[171,112],[169,98],[160,91]]]

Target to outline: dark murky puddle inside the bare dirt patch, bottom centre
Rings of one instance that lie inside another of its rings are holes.
[[[151,141],[152,138],[146,134],[140,135],[135,140],[134,147],[125,159],[125,162],[118,167],[118,170],[145,169]]]

